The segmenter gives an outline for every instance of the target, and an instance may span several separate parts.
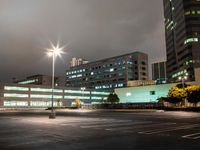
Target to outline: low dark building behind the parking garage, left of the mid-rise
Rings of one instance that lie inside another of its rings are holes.
[[[55,77],[55,86],[65,86],[65,78],[64,77]],[[51,85],[52,84],[52,76],[47,75],[33,75],[26,77],[26,79],[14,81],[14,83],[18,84],[35,84],[35,85]]]

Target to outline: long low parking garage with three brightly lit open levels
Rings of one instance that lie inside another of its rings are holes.
[[[101,103],[110,91],[71,87],[56,87],[53,90],[54,106],[70,106],[75,99],[82,103]],[[52,103],[51,86],[33,84],[0,85],[1,107],[50,107]]]

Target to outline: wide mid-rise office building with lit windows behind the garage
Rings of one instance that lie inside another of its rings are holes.
[[[148,79],[148,55],[133,52],[71,67],[67,87],[108,89],[126,87],[129,80]]]

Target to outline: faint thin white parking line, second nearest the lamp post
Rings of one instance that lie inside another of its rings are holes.
[[[141,124],[139,126],[108,128],[108,129],[105,129],[105,130],[109,130],[109,131],[130,130],[130,129],[148,128],[148,127],[156,127],[156,126],[174,125],[174,124],[176,124],[176,123],[167,122],[167,123],[155,123],[155,124]]]

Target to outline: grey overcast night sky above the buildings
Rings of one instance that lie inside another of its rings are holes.
[[[133,51],[165,59],[162,0],[0,0],[0,82],[51,74],[50,41],[64,76],[72,57],[89,61]]]

